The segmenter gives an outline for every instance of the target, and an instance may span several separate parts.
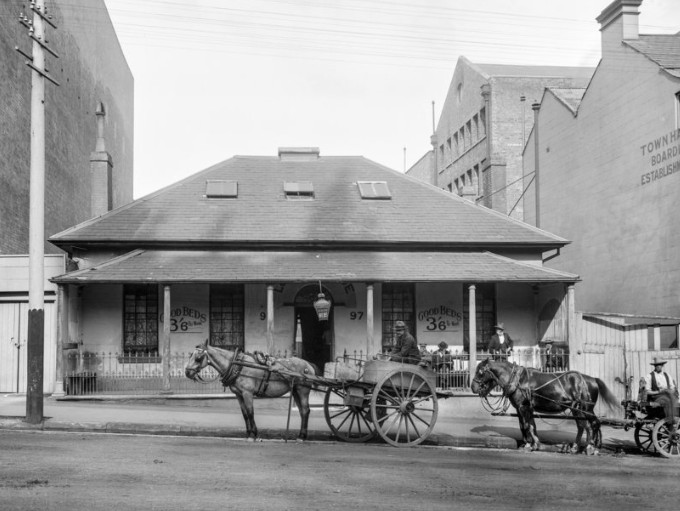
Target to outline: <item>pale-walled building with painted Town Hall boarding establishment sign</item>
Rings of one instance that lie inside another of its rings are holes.
[[[598,17],[587,87],[543,93],[525,219],[573,240],[550,266],[579,268],[580,310],[677,317],[680,33],[640,34],[640,4],[616,0]]]

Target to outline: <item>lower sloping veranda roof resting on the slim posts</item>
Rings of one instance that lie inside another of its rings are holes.
[[[52,279],[133,282],[575,282],[578,275],[491,252],[135,250]]]

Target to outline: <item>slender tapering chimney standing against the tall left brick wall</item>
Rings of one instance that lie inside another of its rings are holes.
[[[90,215],[103,215],[113,208],[113,160],[106,151],[104,118],[106,111],[100,102],[95,112],[97,118],[97,143],[90,154]]]

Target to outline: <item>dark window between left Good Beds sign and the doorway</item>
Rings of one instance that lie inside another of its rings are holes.
[[[210,286],[210,344],[244,348],[244,292],[241,284]]]

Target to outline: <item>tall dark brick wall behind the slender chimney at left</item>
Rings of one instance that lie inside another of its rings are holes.
[[[17,22],[25,2],[0,3],[0,254],[28,252],[31,72],[14,51],[30,53]],[[50,74],[45,94],[45,235],[90,218],[90,153],[95,108],[107,110],[105,136],[113,158],[113,205],[132,200],[133,78],[103,0],[49,3],[58,29],[46,28]],[[27,13],[28,15],[28,13]],[[46,253],[58,253],[45,244]]]

